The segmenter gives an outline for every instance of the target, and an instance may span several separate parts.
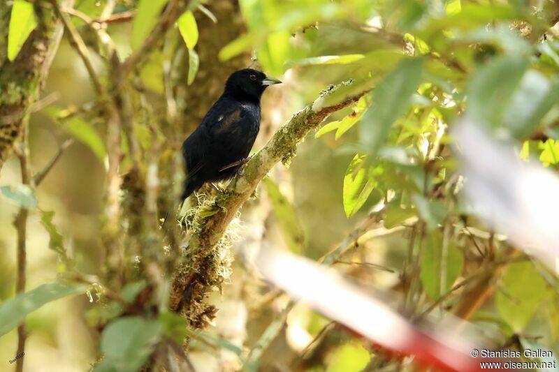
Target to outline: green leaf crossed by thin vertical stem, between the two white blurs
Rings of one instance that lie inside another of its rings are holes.
[[[430,299],[436,300],[452,287],[464,264],[464,256],[460,248],[449,241],[447,252],[443,257],[442,234],[438,231],[430,235],[428,244],[421,256],[421,283]],[[441,288],[443,276],[442,263],[444,262],[444,276],[446,282]]]

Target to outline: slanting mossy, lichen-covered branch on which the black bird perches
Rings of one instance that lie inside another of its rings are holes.
[[[224,269],[221,267],[223,255],[216,252],[216,246],[229,223],[274,165],[293,156],[297,144],[310,131],[318,128],[326,117],[356,103],[368,91],[355,91],[348,87],[351,88],[351,82],[331,86],[321,92],[314,103],[293,114],[266,146],[250,159],[242,175],[237,175],[226,191],[218,195],[209,206],[198,210],[194,217],[195,228],[191,231],[185,265],[177,270],[170,295],[170,307],[180,311],[189,320],[191,327],[203,327],[215,313],[215,308],[204,304],[204,299],[222,281],[219,273]]]

